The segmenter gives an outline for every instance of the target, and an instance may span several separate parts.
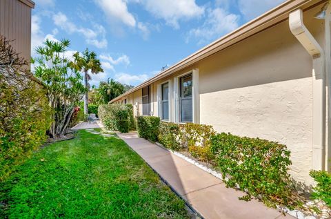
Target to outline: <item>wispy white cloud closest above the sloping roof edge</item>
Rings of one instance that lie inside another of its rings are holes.
[[[187,41],[194,37],[199,39],[200,44],[209,42],[238,28],[238,26],[239,15],[230,14],[223,8],[208,10],[208,17],[203,25],[190,30]]]

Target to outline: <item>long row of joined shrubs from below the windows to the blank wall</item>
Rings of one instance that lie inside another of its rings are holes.
[[[141,124],[141,128],[146,124]],[[145,131],[141,131],[145,133]],[[148,130],[146,130],[146,135]],[[249,200],[259,196],[268,204],[289,204],[290,151],[285,145],[259,138],[217,134],[212,126],[187,123],[161,123],[159,142],[177,151],[188,151],[194,158],[215,166],[228,187],[239,186]]]

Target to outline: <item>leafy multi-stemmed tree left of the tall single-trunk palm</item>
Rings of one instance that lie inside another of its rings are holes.
[[[74,108],[86,92],[86,88],[81,84],[82,76],[72,68],[65,56],[69,45],[68,39],[46,39],[44,46],[36,49],[39,57],[32,59],[36,64],[34,75],[45,86],[46,95],[54,111],[50,137],[61,137],[66,134]]]

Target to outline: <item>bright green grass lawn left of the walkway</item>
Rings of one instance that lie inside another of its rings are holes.
[[[0,218],[188,218],[185,204],[116,137],[79,131],[0,184]]]

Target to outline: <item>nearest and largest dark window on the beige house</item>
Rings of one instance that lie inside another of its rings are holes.
[[[193,122],[193,104],[192,104],[192,74],[185,75],[179,79],[179,122]]]

